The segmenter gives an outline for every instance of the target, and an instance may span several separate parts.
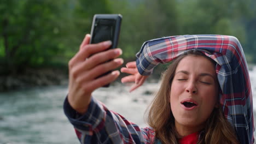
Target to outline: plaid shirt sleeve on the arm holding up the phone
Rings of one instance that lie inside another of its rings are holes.
[[[74,126],[80,143],[153,143],[152,128],[139,128],[123,116],[110,111],[100,101],[91,99],[88,111],[79,115],[66,98],[63,109]]]

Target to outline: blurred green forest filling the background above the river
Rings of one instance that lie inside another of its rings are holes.
[[[149,39],[224,34],[237,37],[247,62],[255,63],[255,8],[255,0],[2,0],[0,75],[28,68],[67,71],[69,59],[90,33],[92,17],[104,13],[123,15],[119,47],[126,61]]]

